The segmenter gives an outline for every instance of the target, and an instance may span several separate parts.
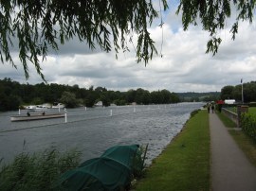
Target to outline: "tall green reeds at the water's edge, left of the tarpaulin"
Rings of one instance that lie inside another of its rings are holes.
[[[21,153],[0,170],[0,190],[51,190],[53,183],[65,171],[80,164],[81,153],[64,153],[52,148],[42,153]]]

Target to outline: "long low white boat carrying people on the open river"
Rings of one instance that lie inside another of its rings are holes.
[[[28,114],[28,115],[16,115],[10,116],[10,121],[30,121],[40,119],[51,119],[64,117],[64,113],[41,113],[41,114]]]

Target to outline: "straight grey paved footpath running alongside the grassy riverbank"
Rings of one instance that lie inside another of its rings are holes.
[[[210,147],[212,191],[256,191],[256,167],[215,113],[210,113]]]

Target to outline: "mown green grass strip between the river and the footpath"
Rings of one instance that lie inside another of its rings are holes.
[[[210,190],[210,129],[206,111],[200,111],[186,123],[135,189]]]

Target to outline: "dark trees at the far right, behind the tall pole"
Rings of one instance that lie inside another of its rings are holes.
[[[243,84],[244,102],[256,101],[256,81],[250,81]],[[221,89],[221,99],[235,99],[236,101],[242,101],[242,84],[239,85],[227,85]]]

